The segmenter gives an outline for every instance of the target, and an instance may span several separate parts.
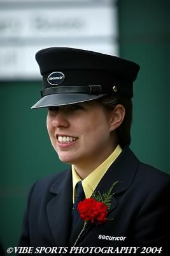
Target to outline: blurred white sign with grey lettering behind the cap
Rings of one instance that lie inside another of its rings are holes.
[[[86,1],[73,6],[59,4],[60,1],[41,5],[38,1],[27,5],[22,2],[17,6],[20,1],[1,2],[1,80],[39,78],[34,56],[46,47],[74,47],[117,55],[115,1]]]

